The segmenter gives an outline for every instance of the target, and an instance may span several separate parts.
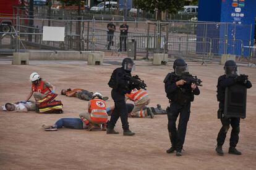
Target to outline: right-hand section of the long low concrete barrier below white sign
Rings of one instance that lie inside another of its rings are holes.
[[[79,51],[56,51],[56,60],[81,60]]]

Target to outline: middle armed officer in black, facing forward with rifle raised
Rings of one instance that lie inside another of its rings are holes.
[[[173,153],[176,150],[176,156],[181,156],[187,122],[189,121],[190,102],[194,101],[194,95],[199,95],[200,91],[194,83],[188,84],[183,79],[177,79],[177,76],[188,71],[187,63],[183,59],[176,59],[173,63],[173,69],[174,72],[168,73],[164,79],[164,89],[170,102],[166,111],[169,138],[172,145],[166,152]],[[176,129],[177,116],[179,116],[179,125]]]

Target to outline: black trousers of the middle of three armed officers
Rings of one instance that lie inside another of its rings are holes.
[[[167,116],[171,144],[176,150],[182,150],[187,131],[187,122],[190,116],[190,102],[184,106],[178,103],[171,103],[167,110]],[[177,116],[179,116],[179,124],[176,128]]]

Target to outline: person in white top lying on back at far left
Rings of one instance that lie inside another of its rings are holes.
[[[6,103],[4,106],[2,106],[2,110],[15,112],[36,111],[36,104],[33,101]]]

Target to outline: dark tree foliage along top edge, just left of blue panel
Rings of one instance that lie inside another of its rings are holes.
[[[167,10],[169,13],[177,12],[184,5],[184,0],[134,0],[134,5],[142,10]]]

